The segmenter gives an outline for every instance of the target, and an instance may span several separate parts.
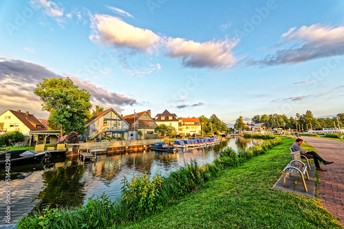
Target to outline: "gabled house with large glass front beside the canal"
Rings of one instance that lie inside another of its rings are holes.
[[[97,113],[87,120],[84,138],[114,138],[129,140],[129,123],[114,109]]]

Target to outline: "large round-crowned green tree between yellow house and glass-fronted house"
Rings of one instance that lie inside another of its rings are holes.
[[[65,133],[85,131],[85,120],[89,118],[89,93],[78,89],[69,78],[44,78],[36,85],[34,94],[43,101],[42,110],[49,111],[48,122],[60,124]]]

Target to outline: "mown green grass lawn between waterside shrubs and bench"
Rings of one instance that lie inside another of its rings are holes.
[[[319,199],[272,190],[293,138],[207,182],[157,215],[113,228],[343,228]]]

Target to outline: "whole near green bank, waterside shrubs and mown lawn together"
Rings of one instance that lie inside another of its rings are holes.
[[[271,189],[294,142],[273,137],[247,151],[224,149],[213,164],[192,161],[168,177],[123,179],[116,201],[102,195],[79,208],[46,208],[17,227],[342,228],[319,199]]]

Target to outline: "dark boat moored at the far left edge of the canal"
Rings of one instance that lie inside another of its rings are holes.
[[[19,166],[43,162],[46,152],[34,152],[27,149],[8,151],[0,154],[0,168],[6,166]]]

